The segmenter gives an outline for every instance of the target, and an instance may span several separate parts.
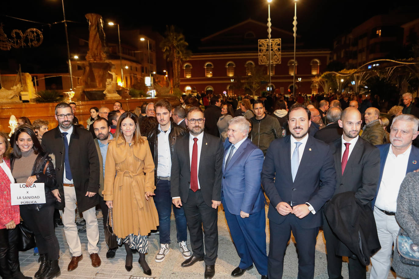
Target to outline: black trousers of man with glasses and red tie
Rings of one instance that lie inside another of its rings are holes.
[[[182,204],[191,238],[192,256],[204,258],[206,265],[215,264],[218,252],[218,209],[209,207],[204,202],[200,190],[194,192],[189,189],[188,202]]]

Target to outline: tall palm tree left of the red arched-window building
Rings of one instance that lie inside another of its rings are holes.
[[[187,49],[188,43],[182,33],[176,32],[175,27],[167,26],[165,38],[160,43],[163,56],[172,62],[173,67],[173,87],[180,87],[181,64],[191,56],[191,51]]]

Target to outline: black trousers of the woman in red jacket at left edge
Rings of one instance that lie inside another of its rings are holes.
[[[12,278],[20,271],[18,228],[0,230],[0,276]]]

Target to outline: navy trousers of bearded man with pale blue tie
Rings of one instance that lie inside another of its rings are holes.
[[[312,213],[308,213],[312,214]],[[287,243],[294,235],[298,250],[298,279],[314,278],[314,258],[318,228],[302,228],[294,214],[288,214],[281,224],[269,220],[268,276],[281,279]]]

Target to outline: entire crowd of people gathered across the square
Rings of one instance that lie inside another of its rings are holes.
[[[18,118],[10,139],[0,132],[0,276],[31,278],[19,267],[21,218],[39,249],[35,278],[61,273],[57,219],[71,254],[67,270],[75,270],[83,259],[76,208],[85,220],[91,265],[100,266],[98,206],[108,259],[124,246],[127,271],[138,253],[151,276],[148,235],[158,230],[154,260],[164,261],[173,248],[173,210],[181,266],[204,261],[210,279],[222,204],[240,257],[233,277],[254,265],[262,279],[282,278],[292,233],[298,277],[313,278],[322,228],[329,278],[342,278],[342,256],[349,259],[351,279],[366,278],[370,262],[370,278],[387,278],[392,257],[398,276],[417,278],[419,268],[405,264],[396,248],[400,233],[419,244],[416,105],[406,93],[388,119],[367,95],[197,94],[182,95],[176,107],[165,99],[133,112],[118,101],[112,111],[92,107],[87,127],[78,124],[75,103],[55,107],[58,125],[50,131],[44,120]],[[45,203],[10,204],[10,183],[35,182],[44,183]]]

